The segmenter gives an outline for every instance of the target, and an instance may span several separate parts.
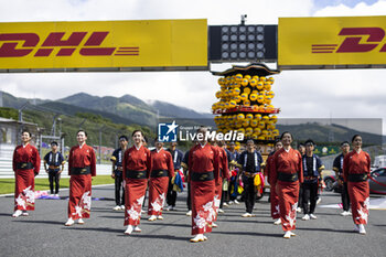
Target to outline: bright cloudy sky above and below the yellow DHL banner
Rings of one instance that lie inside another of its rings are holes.
[[[279,17],[385,15],[386,0],[0,0],[0,22],[207,19],[210,25],[277,24]],[[230,64],[212,65],[223,71]],[[384,69],[285,71],[274,105],[285,118],[383,118]],[[168,89],[165,89],[168,88]],[[0,74],[0,89],[21,97],[58,99],[79,92],[130,94],[208,113],[217,77],[208,72]],[[384,121],[384,133],[386,133]]]

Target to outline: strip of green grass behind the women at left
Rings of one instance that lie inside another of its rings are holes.
[[[93,178],[93,185],[114,184],[110,175],[97,175]],[[61,179],[61,189],[69,186],[69,178]],[[35,191],[50,190],[49,179],[35,179]],[[14,179],[0,179],[0,194],[14,193]]]

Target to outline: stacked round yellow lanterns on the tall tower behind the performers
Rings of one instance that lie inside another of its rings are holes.
[[[218,101],[212,105],[212,109],[229,113],[214,118],[217,131],[226,133],[229,130],[238,130],[246,137],[257,140],[271,140],[279,136],[279,130],[276,128],[277,116],[264,114],[274,110],[271,105],[275,97],[271,89],[274,82],[272,77],[248,74],[243,76],[240,73],[218,78],[221,90],[215,93]],[[250,106],[251,111],[232,113],[237,106]],[[240,144],[238,143],[237,147],[240,148]]]

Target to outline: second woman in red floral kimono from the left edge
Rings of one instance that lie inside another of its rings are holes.
[[[86,144],[87,132],[76,133],[78,146],[72,147],[68,154],[69,200],[68,221],[65,226],[74,225],[75,221],[83,225],[83,218],[89,218],[92,211],[92,176],[96,176],[96,158],[94,148]]]

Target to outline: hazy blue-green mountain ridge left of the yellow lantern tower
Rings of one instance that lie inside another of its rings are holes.
[[[45,110],[66,115],[90,113],[110,119],[112,122],[126,125],[138,124],[156,126],[158,124],[158,118],[165,117],[186,119],[213,118],[211,114],[200,114],[192,109],[165,101],[156,100],[146,103],[131,95],[124,95],[121,97],[98,97],[86,93],[79,93],[55,101],[18,98],[8,93],[3,93],[2,95],[4,107],[19,109],[25,103],[30,103],[30,109],[45,108]]]

